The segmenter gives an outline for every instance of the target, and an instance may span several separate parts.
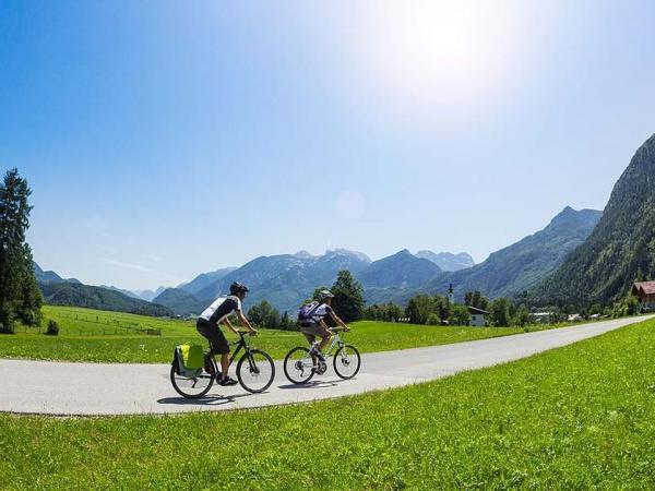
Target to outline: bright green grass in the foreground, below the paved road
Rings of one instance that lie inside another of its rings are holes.
[[[3,415],[0,488],[653,489],[654,441],[650,321],[491,369],[308,405]]]

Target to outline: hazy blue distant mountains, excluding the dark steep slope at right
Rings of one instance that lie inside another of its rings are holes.
[[[203,273],[176,288],[132,295],[105,288],[126,297],[150,298],[179,315],[198,314],[214,298],[225,295],[233,282],[250,288],[247,308],[267,300],[282,312],[294,312],[315,288],[330,287],[342,270],[349,270],[361,283],[368,304],[405,303],[417,292],[443,295],[451,284],[458,298],[474,289],[496,298],[523,292],[552,273],[586,239],[599,217],[600,212],[565,207],[545,229],[492,253],[477,265],[466,253],[424,250],[413,254],[405,249],[371,261],[361,252],[335,249],[322,255],[306,251],[262,255],[238,268]]]

